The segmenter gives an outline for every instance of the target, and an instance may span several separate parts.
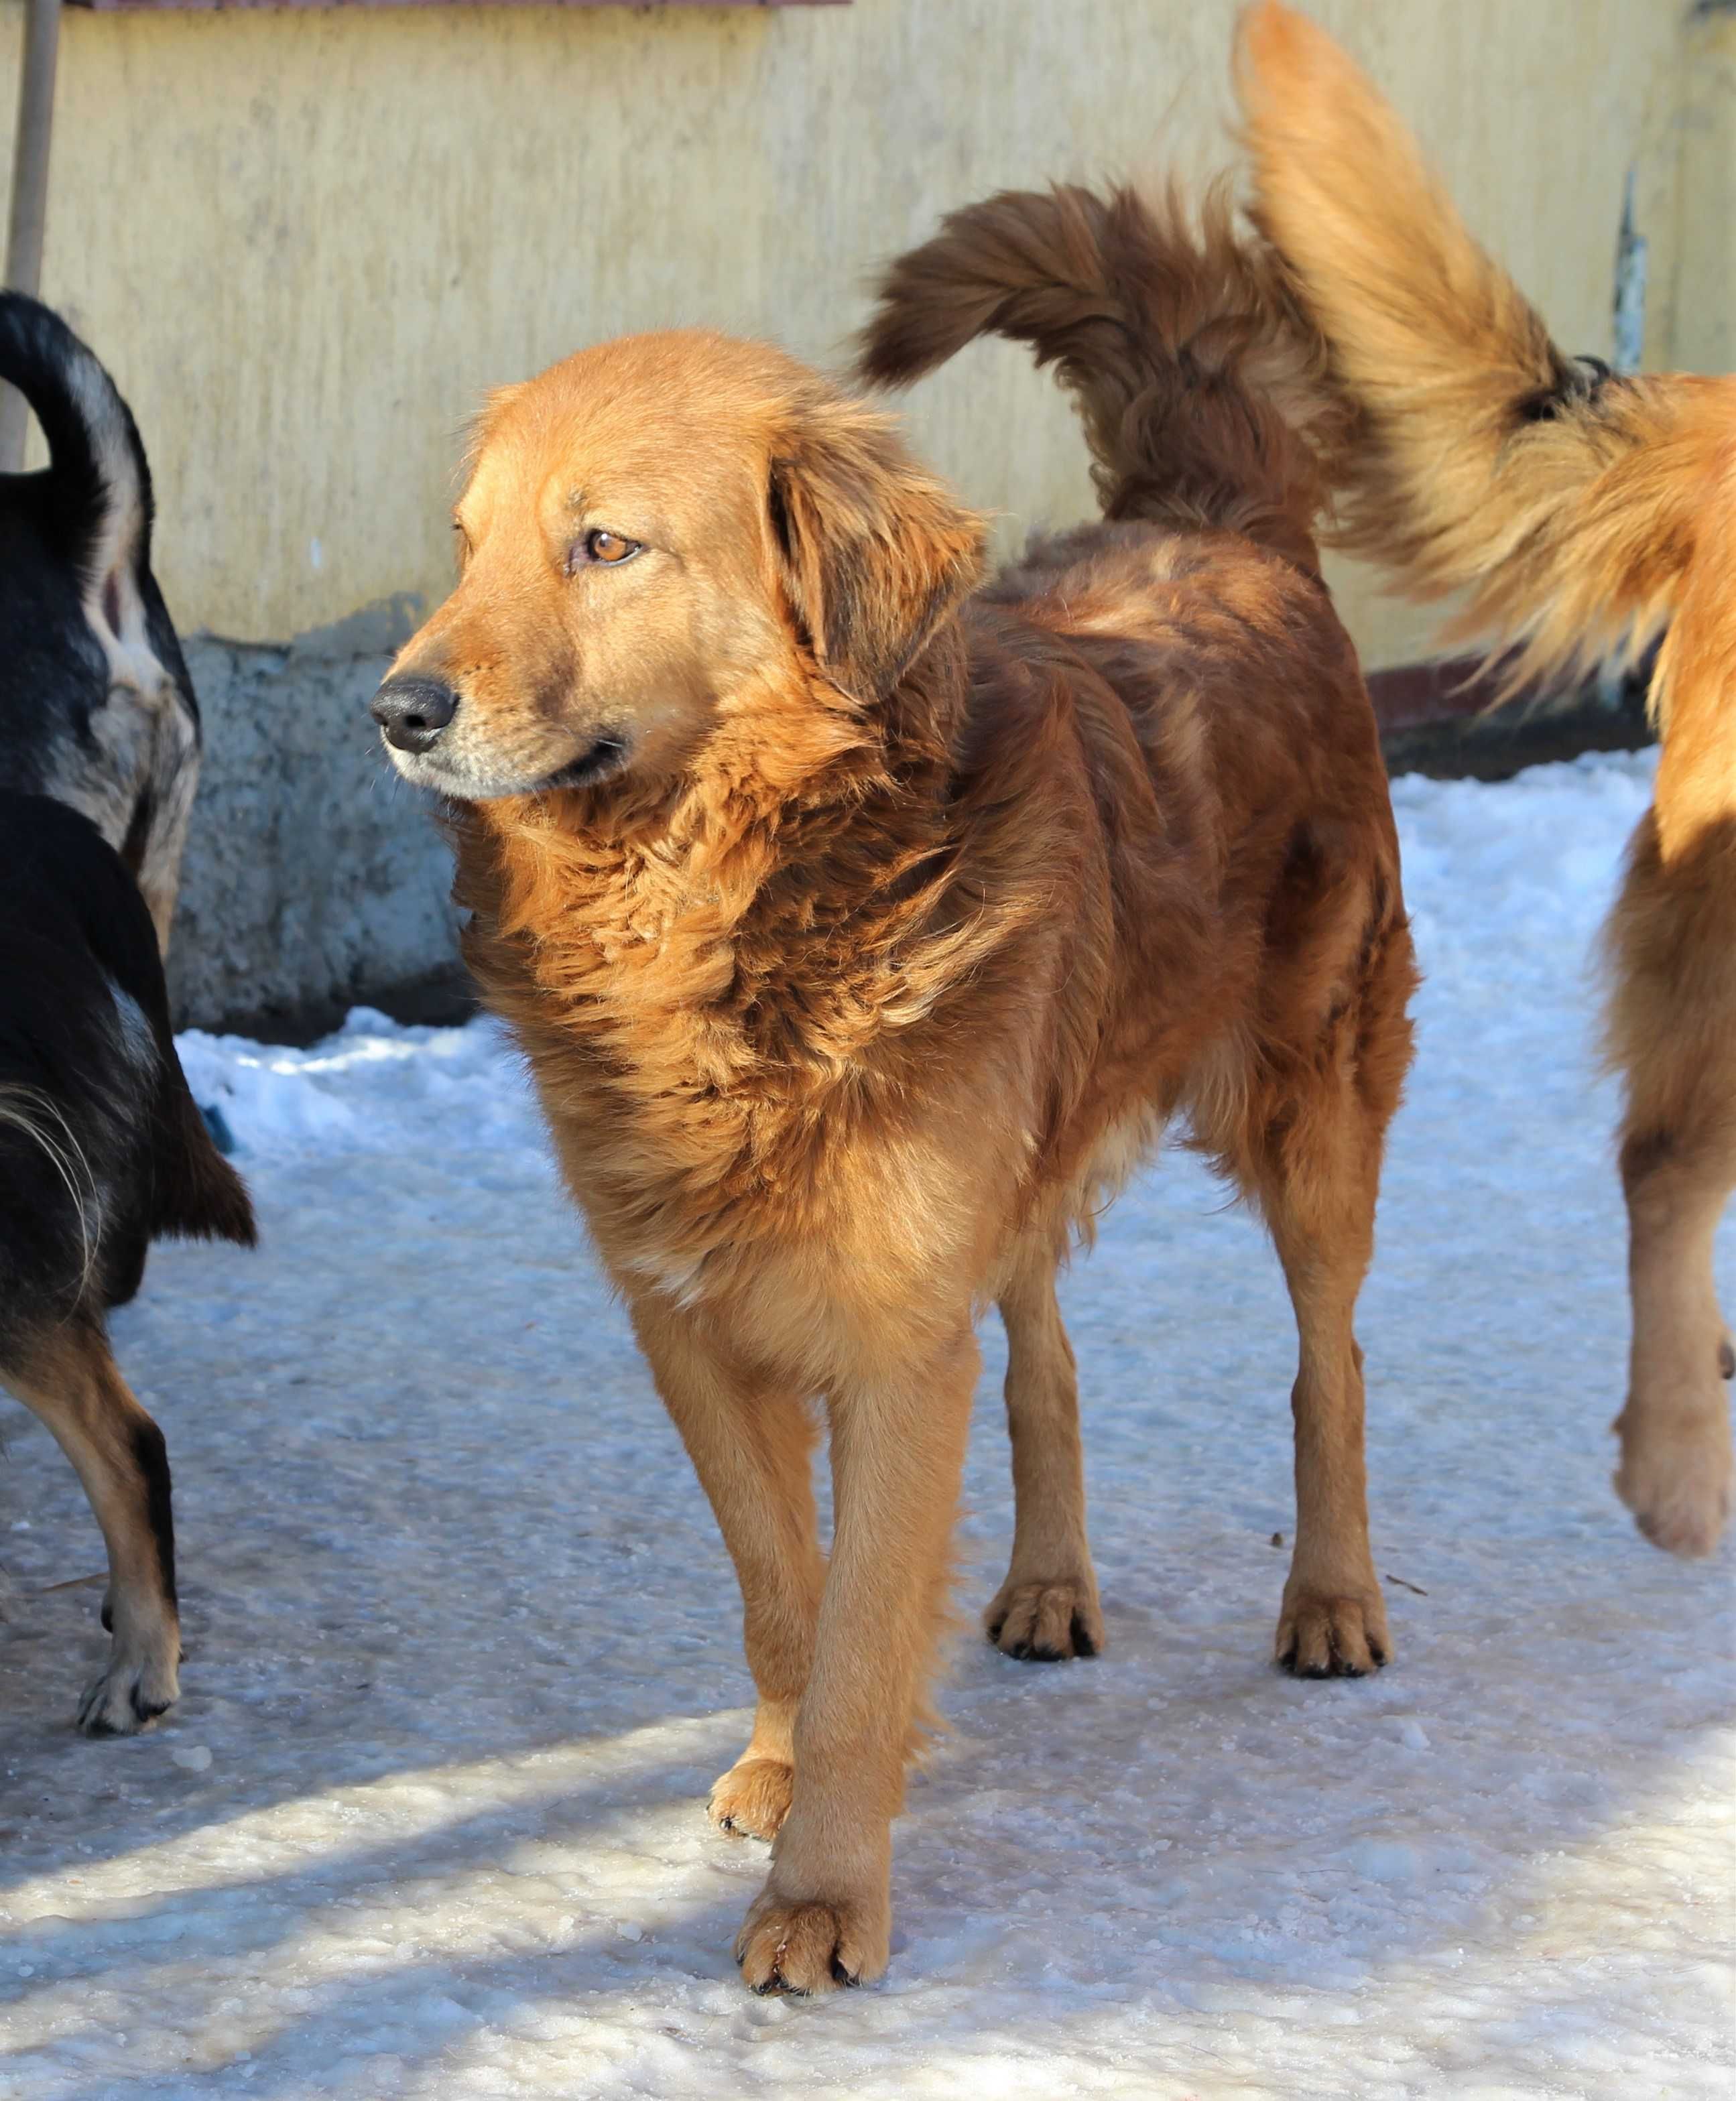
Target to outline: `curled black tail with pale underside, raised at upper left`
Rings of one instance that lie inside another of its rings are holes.
[[[48,519],[86,574],[92,609],[120,632],[122,580],[151,563],[151,471],[132,412],[101,359],[23,292],[0,292],[0,380],[42,424]]]

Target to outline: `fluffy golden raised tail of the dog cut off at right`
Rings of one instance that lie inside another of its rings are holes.
[[[1730,397],[1568,359],[1471,240],[1366,74],[1303,15],[1242,21],[1255,223],[1320,324],[1356,416],[1339,544],[1456,637],[1515,645],[1513,685],[1639,649],[1683,588]]]

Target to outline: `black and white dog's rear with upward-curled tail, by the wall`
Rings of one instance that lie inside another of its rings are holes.
[[[0,380],[50,464],[0,475],[0,788],[97,826],[160,952],[200,777],[200,710],[151,576],[151,471],[113,380],[50,313],[0,292]]]

